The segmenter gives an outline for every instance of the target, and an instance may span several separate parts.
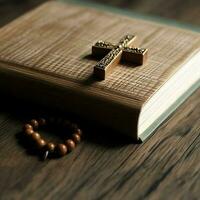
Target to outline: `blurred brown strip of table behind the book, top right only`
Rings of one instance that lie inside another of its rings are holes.
[[[89,0],[88,0],[89,1]],[[200,25],[200,4],[198,0],[90,0],[102,4],[125,8],[129,11],[178,20]]]

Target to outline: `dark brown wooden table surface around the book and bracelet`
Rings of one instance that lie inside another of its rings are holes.
[[[41,2],[0,0],[0,25]],[[111,2],[200,24],[197,0]],[[143,144],[129,144],[89,129],[74,152],[45,162],[19,140],[23,122],[41,112],[40,108],[2,97],[0,199],[199,199],[200,90]]]

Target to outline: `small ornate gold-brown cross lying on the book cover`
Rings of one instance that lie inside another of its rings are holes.
[[[131,47],[136,36],[126,35],[117,45],[98,41],[92,46],[92,55],[104,57],[95,67],[94,75],[101,80],[112,72],[120,60],[142,65],[147,58],[148,49]]]

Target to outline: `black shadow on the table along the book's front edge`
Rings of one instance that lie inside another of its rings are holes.
[[[6,95],[2,96],[4,96],[4,98],[1,98],[0,114],[9,115],[9,118],[21,123],[22,126],[33,118],[55,117],[77,123],[83,130],[83,139],[86,143],[93,143],[106,148],[119,148],[127,144],[133,144],[131,138],[120,135],[119,133],[97,123],[79,118],[71,113],[63,113],[54,110],[53,108],[42,107],[30,102],[16,100]],[[47,138],[52,138],[53,140],[59,140],[59,137],[55,135],[55,132],[45,132],[45,136],[47,136]],[[18,136],[19,133],[16,133],[17,138]]]

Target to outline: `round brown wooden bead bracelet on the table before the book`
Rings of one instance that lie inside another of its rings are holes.
[[[59,126],[62,125],[62,128],[67,129],[68,132],[70,132],[71,137],[67,139],[65,138],[65,134],[63,136],[64,142],[58,144],[44,140],[37,130],[40,128],[40,126],[45,127],[46,125],[52,124]],[[49,155],[64,156],[68,152],[71,152],[81,141],[82,136],[82,131],[76,124],[73,124],[68,120],[62,121],[59,119],[56,122],[54,118],[50,118],[49,120],[44,118],[39,120],[32,119],[30,123],[24,125],[23,133],[37,150],[44,153],[44,160],[46,160]]]

